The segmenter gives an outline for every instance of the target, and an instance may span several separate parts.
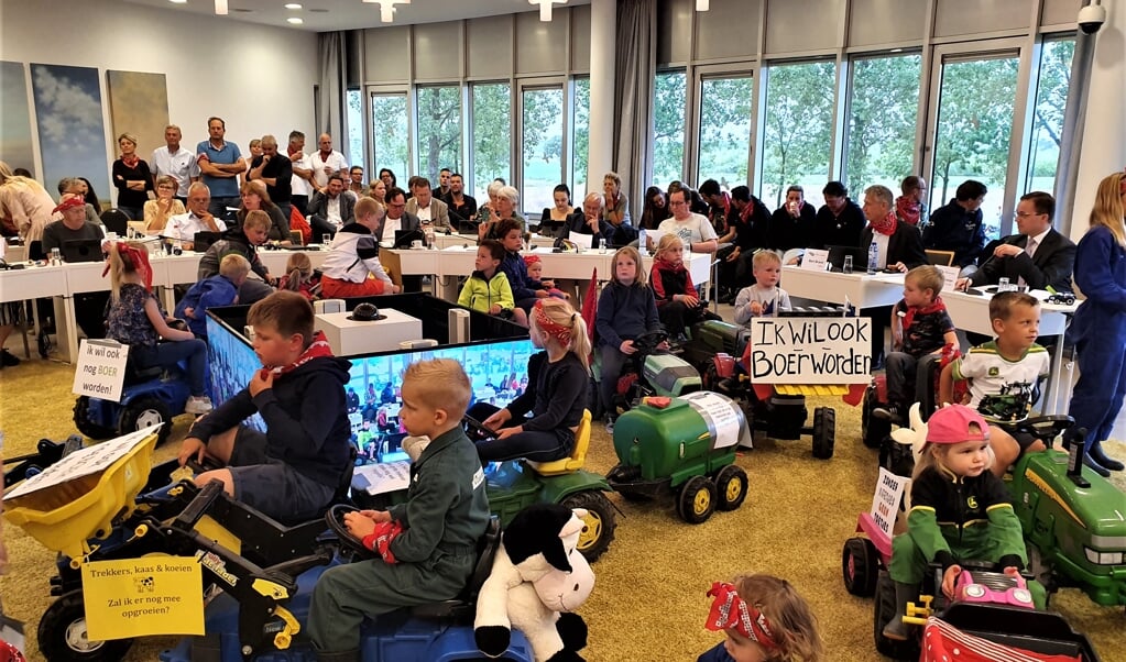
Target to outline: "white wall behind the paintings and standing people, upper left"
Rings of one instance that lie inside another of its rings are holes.
[[[243,152],[251,137],[270,133],[284,141],[295,128],[305,133],[306,150],[315,149],[315,33],[119,0],[0,0],[0,60],[99,70],[107,172],[116,158],[110,69],[166,75],[169,118],[189,149],[207,138],[213,115],[226,120],[226,140]],[[33,134],[34,124],[33,115]],[[142,141],[160,145],[163,136]],[[42,172],[38,155],[35,171]],[[46,184],[54,191],[55,182]]]

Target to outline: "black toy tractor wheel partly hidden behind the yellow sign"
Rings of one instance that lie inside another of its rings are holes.
[[[38,629],[39,651],[51,662],[117,662],[133,639],[90,641],[86,635],[82,590],[64,593],[43,612]]]

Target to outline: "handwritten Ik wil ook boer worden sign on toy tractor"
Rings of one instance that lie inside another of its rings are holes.
[[[747,369],[758,384],[867,384],[868,317],[756,317]]]

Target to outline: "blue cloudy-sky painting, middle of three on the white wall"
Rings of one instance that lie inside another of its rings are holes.
[[[44,187],[54,195],[63,177],[84,177],[108,199],[113,156],[106,150],[98,70],[32,64],[32,90]]]

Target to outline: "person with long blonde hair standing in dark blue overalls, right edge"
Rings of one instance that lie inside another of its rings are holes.
[[[1087,428],[1083,463],[1103,476],[1123,463],[1102,451],[1126,397],[1126,175],[1099,182],[1091,227],[1075,251],[1075,285],[1087,299],[1075,311],[1079,382],[1067,413]]]

